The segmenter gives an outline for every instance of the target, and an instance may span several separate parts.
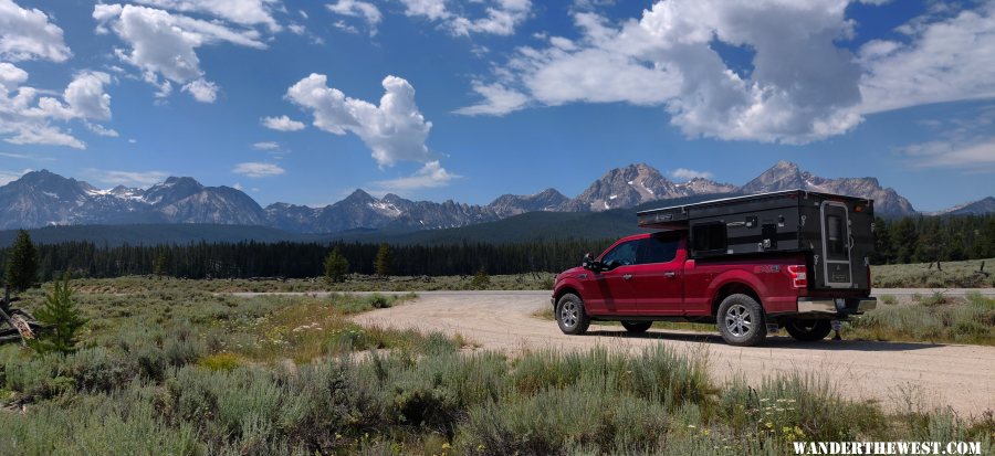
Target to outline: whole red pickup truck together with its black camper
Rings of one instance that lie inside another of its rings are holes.
[[[584,333],[591,320],[621,321],[630,332],[677,320],[718,324],[736,346],[781,327],[814,341],[832,320],[874,308],[870,200],[779,192],[639,216],[667,231],[619,240],[556,276],[552,304],[563,332]]]

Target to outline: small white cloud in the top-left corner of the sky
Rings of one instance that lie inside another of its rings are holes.
[[[36,9],[0,0],[0,59],[12,62],[44,59],[63,62],[72,55],[62,29]]]

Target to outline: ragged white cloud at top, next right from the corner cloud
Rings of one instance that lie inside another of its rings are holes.
[[[167,1],[166,3],[178,3]],[[166,10],[134,4],[96,4],[93,18],[97,32],[108,30],[128,44],[117,56],[138,68],[145,81],[168,96],[178,84],[195,99],[213,103],[218,86],[206,78],[196,50],[203,45],[231,43],[266,47],[254,29],[233,28],[220,21],[205,21]]]

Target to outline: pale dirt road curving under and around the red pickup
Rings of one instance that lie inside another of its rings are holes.
[[[876,290],[887,294],[887,290]],[[421,291],[419,299],[356,317],[363,325],[459,332],[484,349],[583,350],[597,346],[640,350],[666,344],[703,356],[713,378],[742,374],[760,382],[778,372],[829,379],[847,396],[897,407],[907,397],[926,406],[950,405],[962,414],[995,410],[995,347],[831,341],[802,344],[783,331],[763,347],[724,344],[716,335],[651,329],[627,336],[618,327],[591,326],[587,336],[565,336],[556,324],[532,316],[548,306],[548,291]],[[618,328],[618,329],[616,329]]]

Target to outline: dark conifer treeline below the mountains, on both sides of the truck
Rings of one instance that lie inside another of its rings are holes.
[[[995,257],[995,215],[915,216],[876,221],[874,264]],[[472,275],[561,272],[599,253],[612,240],[538,241],[515,244],[463,243],[394,245],[396,275]],[[161,273],[174,277],[316,277],[337,246],[349,271],[375,274],[378,244],[360,243],[193,243],[158,246],[97,246],[67,242],[38,246],[40,278],[61,272],[74,277],[116,277]],[[10,250],[0,251],[0,265]]]

